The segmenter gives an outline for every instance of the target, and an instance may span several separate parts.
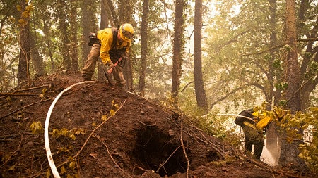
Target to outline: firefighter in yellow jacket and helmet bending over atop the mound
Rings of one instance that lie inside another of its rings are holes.
[[[129,54],[131,40],[134,38],[134,27],[125,23],[117,28],[105,28],[99,30],[97,33],[90,33],[90,42],[88,45],[92,46],[85,65],[81,71],[84,80],[91,80],[95,70],[96,61],[100,56],[102,63],[109,68],[113,68],[112,73],[117,84],[123,87],[126,80],[123,75],[122,64]],[[119,65],[114,67],[119,58],[122,61]]]

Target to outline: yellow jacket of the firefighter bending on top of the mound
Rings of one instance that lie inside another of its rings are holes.
[[[110,62],[109,51],[110,49],[112,49],[112,28],[105,28],[103,30],[99,30],[97,33],[97,38],[100,40],[100,59],[102,60],[102,63],[107,64],[108,62]],[[131,40],[129,40],[129,42],[123,40],[122,44],[119,44],[119,40],[117,40],[114,48],[123,49],[126,47],[126,54],[128,54],[130,45]]]

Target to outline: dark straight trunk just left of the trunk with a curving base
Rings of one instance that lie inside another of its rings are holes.
[[[182,57],[184,52],[184,0],[175,1],[175,37],[173,39],[173,56],[172,56],[172,105],[177,108]]]

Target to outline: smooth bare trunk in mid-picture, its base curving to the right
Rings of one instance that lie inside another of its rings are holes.
[[[208,112],[208,101],[204,90],[202,77],[202,0],[196,0],[194,10],[194,86],[196,91],[196,103],[202,109],[204,115]]]

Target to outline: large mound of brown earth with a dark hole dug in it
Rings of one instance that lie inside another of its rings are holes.
[[[1,94],[1,177],[53,177],[48,115],[47,143],[61,177],[312,177],[253,160],[158,103],[81,80],[40,77]]]

